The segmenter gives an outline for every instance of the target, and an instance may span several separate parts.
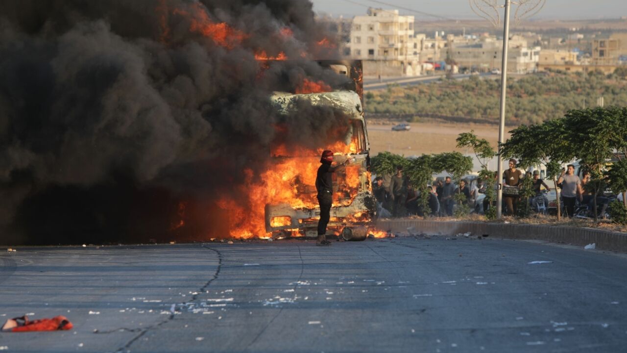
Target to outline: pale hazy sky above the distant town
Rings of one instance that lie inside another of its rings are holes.
[[[477,16],[470,9],[468,0],[311,0],[314,11],[334,16],[355,16],[366,14],[373,8],[408,8],[424,13],[453,19],[470,19]],[[497,0],[504,4],[505,0]],[[411,14],[416,19],[437,19],[424,14],[401,9],[401,14]],[[513,14],[513,12],[512,12]],[[547,0],[544,8],[534,18],[594,19],[619,18],[627,16],[627,0]]]

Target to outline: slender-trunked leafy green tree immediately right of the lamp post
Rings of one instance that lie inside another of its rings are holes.
[[[545,121],[539,125],[521,125],[510,131],[510,138],[502,145],[505,158],[518,158],[520,165],[544,165],[547,178],[553,179],[557,196],[557,219],[561,219],[557,175],[562,163],[574,158],[571,140],[565,138],[564,119]]]

